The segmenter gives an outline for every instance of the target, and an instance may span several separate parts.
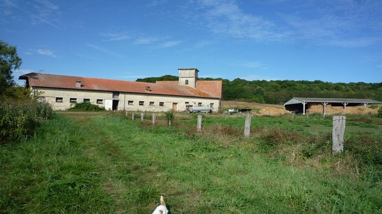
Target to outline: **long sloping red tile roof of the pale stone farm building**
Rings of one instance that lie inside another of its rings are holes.
[[[114,79],[100,79],[80,76],[65,76],[45,73],[28,73],[21,75],[19,79],[28,81],[29,86],[48,87],[48,88],[65,88],[65,89],[82,89],[97,91],[119,91],[141,94],[161,94],[175,96],[190,97],[208,97],[221,98],[216,93],[202,91],[188,86],[143,83],[132,81],[119,81]],[[81,87],[76,87],[76,81],[81,82]],[[150,87],[150,91],[146,91],[146,87]],[[220,88],[221,90],[221,88]]]

